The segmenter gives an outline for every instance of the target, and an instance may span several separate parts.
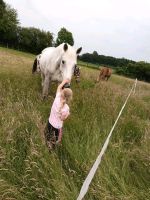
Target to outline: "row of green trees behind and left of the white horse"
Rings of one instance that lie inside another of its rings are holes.
[[[34,27],[21,27],[17,12],[0,0],[0,44],[10,48],[38,54],[48,46],[58,46],[62,42],[74,44],[72,33],[61,28],[54,41],[54,34]]]

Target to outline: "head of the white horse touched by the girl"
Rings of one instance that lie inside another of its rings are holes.
[[[63,54],[60,61],[60,71],[62,78],[71,80],[72,75],[77,64],[77,56],[81,52],[82,47],[75,50],[69,44],[62,44]]]

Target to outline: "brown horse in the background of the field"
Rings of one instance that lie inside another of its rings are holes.
[[[100,69],[100,73],[99,73],[99,77],[97,78],[97,82],[99,82],[100,80],[108,81],[111,74],[112,74],[112,70],[110,68],[103,67],[102,69]]]

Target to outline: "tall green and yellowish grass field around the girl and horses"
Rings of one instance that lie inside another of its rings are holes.
[[[0,199],[76,200],[134,82],[81,67],[72,81],[62,146],[49,153],[43,130],[57,85],[41,99],[34,56],[0,48]],[[150,200],[150,85],[137,83],[84,200]]]

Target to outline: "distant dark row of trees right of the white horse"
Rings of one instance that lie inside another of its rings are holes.
[[[150,82],[150,63],[98,55],[96,51],[92,54],[83,54],[79,58],[84,62],[93,63],[97,66],[106,65],[112,67],[117,74]]]

